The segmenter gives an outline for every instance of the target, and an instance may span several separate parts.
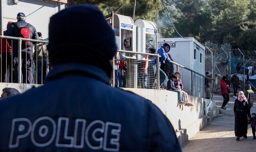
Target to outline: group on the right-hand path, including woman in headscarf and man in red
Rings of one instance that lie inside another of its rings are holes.
[[[235,136],[236,141],[239,141],[241,137],[247,138],[247,129],[248,124],[251,124],[253,140],[256,139],[255,136],[255,127],[256,127],[256,112],[250,113],[250,109],[254,103],[254,92],[251,88],[249,82],[246,82],[244,93],[243,91],[238,92],[238,96],[236,95],[237,88],[240,88],[239,78],[236,76],[236,72],[232,76],[231,80],[229,80],[229,75],[223,76],[220,80],[220,91],[223,96],[223,103],[221,108],[226,110],[226,104],[230,100],[230,82],[234,88],[233,98],[235,98],[234,103],[234,115],[235,115]]]

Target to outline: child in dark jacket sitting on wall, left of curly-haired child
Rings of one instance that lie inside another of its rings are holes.
[[[178,79],[177,74],[172,74],[170,76],[170,80],[168,80],[168,82],[167,82],[167,90],[174,91],[174,92],[178,93],[178,102],[181,105],[181,104],[185,104],[185,102],[184,102],[184,96],[182,95],[182,91],[178,90],[178,88],[176,88],[174,85],[174,81],[176,81],[177,79]]]

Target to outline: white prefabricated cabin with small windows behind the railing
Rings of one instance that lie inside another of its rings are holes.
[[[170,53],[174,62],[190,68],[200,74],[204,75],[204,46],[200,44],[194,38],[159,38],[158,39],[158,48],[161,44],[175,43],[175,47],[171,47]],[[196,46],[199,46],[199,50],[196,49]],[[197,50],[196,52],[196,60],[194,60],[194,49]],[[200,53],[202,54],[202,63],[200,63]],[[176,72],[176,66],[174,65],[174,72]],[[179,68],[179,72],[182,74],[182,82],[184,85],[184,90],[186,92],[191,91],[191,72],[184,68]],[[201,83],[202,77],[198,77],[196,82]],[[197,86],[200,84],[196,84]],[[202,85],[202,84],[201,84]],[[194,86],[195,88],[195,86]],[[201,90],[194,90],[194,92],[200,93]],[[197,93],[197,94],[198,94]]]

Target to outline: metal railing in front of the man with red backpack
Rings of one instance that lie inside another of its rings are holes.
[[[35,80],[35,83],[36,84],[42,84],[43,83],[43,74],[47,75],[47,71],[49,70],[49,67],[48,67],[48,55],[46,54],[46,60],[44,60],[42,57],[41,57],[41,64],[40,64],[40,58],[38,58],[38,47],[40,48],[40,45],[43,47],[43,45],[47,45],[48,44],[48,41],[44,41],[44,40],[33,40],[33,39],[27,39],[27,38],[19,38],[19,37],[12,37],[12,36],[1,36],[0,35],[0,38],[1,38],[1,63],[4,59],[4,56],[2,56],[2,52],[7,52],[7,47],[6,47],[6,50],[4,51],[4,48],[2,48],[2,39],[7,39],[7,40],[11,40],[10,42],[10,46],[11,46],[11,53],[10,53],[10,58],[9,60],[11,60],[11,65],[9,65],[9,69],[10,69],[10,77],[9,77],[9,82],[13,82],[13,78],[15,77],[15,82],[16,83],[34,83],[34,80]],[[18,46],[14,46],[13,42],[16,41],[14,44],[17,44]],[[31,48],[29,48],[29,46],[27,47],[27,45],[25,45],[25,48],[24,46],[22,47],[22,41],[29,41],[29,42],[33,42],[34,44],[30,43],[31,45]],[[6,46],[7,46],[7,41],[6,41]],[[18,48],[18,49],[13,49],[13,48]],[[28,49],[30,49],[29,52]],[[22,51],[23,50],[23,51]],[[25,50],[25,51],[24,51]],[[33,54],[33,50],[34,50],[34,54]],[[42,51],[42,50],[41,50]],[[22,53],[24,52],[24,53]],[[16,54],[14,56],[14,54]],[[17,54],[18,54],[18,58],[17,57]],[[33,61],[33,55],[35,55],[35,61]],[[22,58],[23,60],[25,61],[22,61]],[[31,59],[30,59],[31,58]],[[6,56],[5,56],[5,64],[6,67],[3,67],[1,64],[1,82],[7,82],[7,69],[8,69],[8,65],[7,65],[7,53],[6,53]],[[39,60],[38,60],[39,59]],[[15,62],[14,62],[15,60]],[[44,62],[46,61],[46,62]],[[43,69],[45,69],[45,63],[46,63],[46,72],[43,71]],[[40,64],[41,66],[41,69],[42,71],[40,71],[41,73],[41,80],[39,80],[39,82],[41,83],[38,83],[38,68],[40,69],[40,67],[38,66],[38,64]],[[44,67],[43,67],[44,66]],[[3,69],[5,68],[5,70],[3,71]],[[14,68],[14,73],[16,74],[13,74],[13,69]],[[30,69],[31,68],[31,69]],[[31,70],[31,71],[30,71]],[[23,71],[23,72],[22,72]],[[30,77],[30,72],[31,72],[31,78],[28,78]],[[34,75],[34,78],[33,78],[33,75]],[[5,77],[5,78],[2,78],[2,77]],[[5,80],[4,80],[5,79]],[[11,79],[11,80],[10,80]],[[22,82],[22,79],[23,79],[23,82]],[[24,80],[26,79],[26,80]]]

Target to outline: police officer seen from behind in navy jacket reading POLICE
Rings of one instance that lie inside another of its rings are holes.
[[[156,105],[110,86],[116,50],[114,31],[96,6],[53,15],[53,69],[43,86],[0,102],[0,151],[180,152],[172,124]]]

